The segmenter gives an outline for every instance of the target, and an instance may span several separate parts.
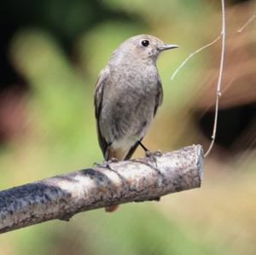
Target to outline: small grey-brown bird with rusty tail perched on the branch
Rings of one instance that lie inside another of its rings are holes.
[[[103,157],[130,159],[140,145],[163,101],[156,61],[161,52],[175,49],[152,35],[128,38],[113,51],[95,86],[96,130]],[[117,205],[105,207],[113,212]]]

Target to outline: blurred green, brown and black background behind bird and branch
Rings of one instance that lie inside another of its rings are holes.
[[[202,187],[3,234],[1,255],[256,254],[256,20],[237,32],[256,3],[226,5],[223,96]],[[171,77],[191,52],[218,37],[220,1],[9,0],[0,12],[0,189],[102,161],[97,74],[119,43],[139,33],[180,45],[158,61],[164,103],[145,145],[207,149],[220,41]]]

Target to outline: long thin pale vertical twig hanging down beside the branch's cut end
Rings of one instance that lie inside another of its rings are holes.
[[[216,131],[217,131],[217,122],[218,122],[218,100],[221,96],[221,82],[222,82],[222,76],[223,76],[223,67],[224,67],[224,51],[225,51],[225,5],[224,0],[221,0],[221,10],[222,10],[222,31],[221,31],[221,37],[222,37],[222,46],[221,46],[221,57],[220,57],[220,63],[219,63],[219,72],[218,72],[218,86],[217,86],[217,93],[216,93],[216,104],[215,104],[215,116],[214,116],[214,125],[212,130],[212,142],[207,149],[207,152],[205,154],[205,157],[211,152],[213,144],[216,139]]]

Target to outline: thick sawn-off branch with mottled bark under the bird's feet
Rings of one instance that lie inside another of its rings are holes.
[[[50,219],[201,186],[203,151],[193,145],[175,152],[110,162],[0,191],[0,233]],[[157,167],[156,167],[157,165]]]

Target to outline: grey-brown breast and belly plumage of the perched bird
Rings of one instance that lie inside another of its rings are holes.
[[[113,83],[104,91],[101,130],[109,142],[131,144],[145,136],[153,119],[158,74],[138,68],[112,75]]]

